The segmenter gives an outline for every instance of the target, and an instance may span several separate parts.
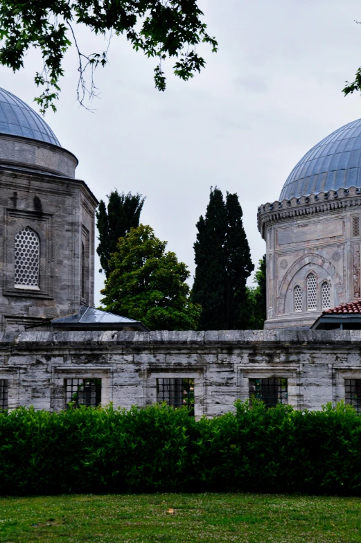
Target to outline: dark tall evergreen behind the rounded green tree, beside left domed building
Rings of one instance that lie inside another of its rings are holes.
[[[144,198],[141,197],[141,194],[118,193],[118,190],[113,190],[109,194],[107,206],[103,200],[100,200],[96,212],[96,226],[99,232],[99,244],[96,252],[100,257],[100,265],[106,277],[110,272],[110,255],[116,251],[119,238],[123,238],[131,228],[139,226],[143,204]],[[102,269],[99,271],[102,272]]]

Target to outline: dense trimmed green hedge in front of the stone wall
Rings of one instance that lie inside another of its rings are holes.
[[[0,413],[0,493],[307,492],[361,495],[361,417],[236,403]]]

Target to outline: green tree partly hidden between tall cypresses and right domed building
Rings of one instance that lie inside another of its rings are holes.
[[[256,287],[248,287],[248,311],[249,328],[252,330],[262,330],[265,319],[267,319],[266,310],[266,256],[258,260],[258,269],[254,277]]]

